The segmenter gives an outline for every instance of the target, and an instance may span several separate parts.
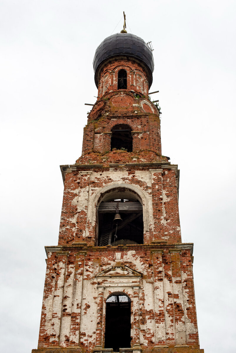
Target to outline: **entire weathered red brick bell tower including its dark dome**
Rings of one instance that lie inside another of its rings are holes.
[[[139,37],[106,38],[94,57],[98,100],[82,156],[61,166],[64,198],[32,352],[199,348],[193,244],[181,240],[177,165],[161,155],[148,97],[153,56]]]

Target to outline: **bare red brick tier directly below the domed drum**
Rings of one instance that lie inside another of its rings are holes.
[[[130,105],[127,106],[127,103]],[[147,104],[150,106],[148,111],[145,108]],[[88,162],[88,159],[84,158],[86,154],[90,154],[92,158],[100,157],[100,161],[104,155],[109,157],[111,152],[109,137],[112,127],[119,124],[130,126],[132,135],[135,136],[133,151],[138,155],[146,151],[146,159],[144,154],[141,154],[143,161],[148,162],[153,158],[156,161],[167,161],[166,158],[161,158],[160,117],[157,107],[149,101],[148,96],[137,98],[128,90],[116,90],[100,98],[88,114],[88,124],[84,128],[82,157],[76,162],[79,164]],[[153,153],[149,156],[148,152]]]

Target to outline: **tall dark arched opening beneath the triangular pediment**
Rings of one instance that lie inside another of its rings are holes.
[[[130,348],[131,301],[124,293],[113,293],[106,300],[105,348]]]

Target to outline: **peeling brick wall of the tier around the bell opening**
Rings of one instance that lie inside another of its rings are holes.
[[[97,224],[88,214],[88,210],[95,212],[98,202],[93,201],[94,196],[103,193],[104,187],[114,184],[119,186],[121,183],[125,184],[127,189],[136,186],[138,190],[142,190],[152,207],[148,211],[152,223],[144,233],[144,243],[155,240],[167,243],[181,242],[176,172],[169,169],[171,166],[114,164],[112,168],[101,165],[93,170],[91,167],[83,167],[82,171],[80,166],[67,168],[71,172],[65,175],[59,245],[79,241],[96,245]],[[154,167],[156,169],[151,169]]]

